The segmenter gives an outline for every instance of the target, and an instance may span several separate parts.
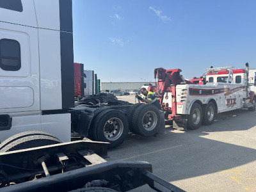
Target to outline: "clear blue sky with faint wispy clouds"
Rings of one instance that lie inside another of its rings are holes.
[[[154,81],[154,68],[256,68],[254,0],[73,0],[74,61],[101,82]]]

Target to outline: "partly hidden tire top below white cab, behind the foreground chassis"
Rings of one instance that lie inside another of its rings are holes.
[[[40,147],[44,145],[53,145],[61,143],[60,140],[58,140],[51,134],[47,134],[46,132],[32,132],[34,131],[21,132],[20,134],[16,134],[14,139],[8,139],[8,142],[4,141],[4,143],[2,143],[0,146],[0,152],[8,152],[24,148]]]

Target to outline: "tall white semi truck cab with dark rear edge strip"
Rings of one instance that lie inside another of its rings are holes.
[[[70,141],[71,1],[0,1],[0,141],[45,131]]]

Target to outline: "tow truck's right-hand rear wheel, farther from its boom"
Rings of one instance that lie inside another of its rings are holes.
[[[203,108],[203,124],[211,125],[216,117],[216,107],[213,102],[209,102],[205,108]]]

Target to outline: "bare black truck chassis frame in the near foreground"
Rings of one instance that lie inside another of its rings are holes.
[[[1,191],[183,191],[152,174],[147,162],[109,161],[107,143],[72,141],[0,153]]]

